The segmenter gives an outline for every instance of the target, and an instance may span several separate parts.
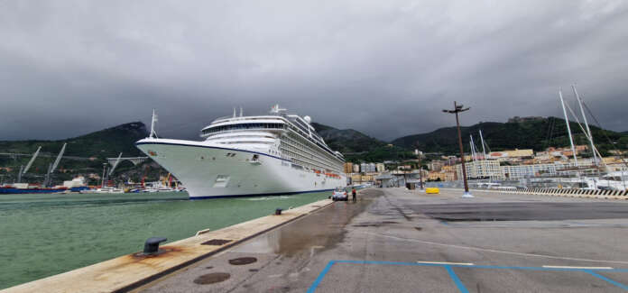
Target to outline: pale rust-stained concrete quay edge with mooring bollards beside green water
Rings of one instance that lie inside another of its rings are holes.
[[[146,257],[130,253],[87,267],[5,288],[0,292],[85,292],[86,288],[89,288],[89,291],[127,291],[282,224],[309,215],[331,203],[330,199],[319,200],[285,210],[282,215],[265,215],[216,231],[199,233],[189,238],[166,243],[161,247],[164,252],[156,256]],[[208,244],[210,240],[215,239],[228,242],[222,245]]]

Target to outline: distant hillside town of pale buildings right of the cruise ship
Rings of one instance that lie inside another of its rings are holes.
[[[545,151],[510,150],[465,155],[467,179],[520,180],[552,177],[593,176],[605,166],[607,172],[625,171],[623,152],[594,161],[586,145],[576,145],[576,154],[568,147],[549,147]],[[417,159],[383,162],[345,163],[344,169],[354,184],[382,185],[383,179],[402,176],[408,181],[446,182],[462,180],[459,156],[438,156],[415,150]],[[435,158],[437,157],[437,158]],[[426,158],[432,158],[427,159]],[[387,177],[388,176],[388,177]]]

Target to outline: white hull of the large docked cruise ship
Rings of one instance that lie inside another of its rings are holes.
[[[329,177],[297,169],[289,160],[264,151],[154,138],[136,142],[136,146],[179,179],[192,199],[285,195],[346,187],[344,175]]]

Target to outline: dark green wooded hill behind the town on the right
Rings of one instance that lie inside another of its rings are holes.
[[[586,136],[577,123],[570,123],[574,141],[577,144],[588,144]],[[596,147],[603,154],[613,147],[628,148],[628,135],[600,129],[590,125]],[[479,131],[482,130],[486,144],[491,151],[508,149],[545,150],[549,146],[564,147],[569,145],[567,126],[564,119],[557,117],[535,119],[511,119],[508,123],[486,122],[460,127],[463,147],[469,151],[469,134],[474,135],[477,149],[482,150],[479,142]],[[608,137],[612,142],[608,142]],[[616,143],[613,143],[616,142]],[[439,128],[431,133],[408,135],[392,141],[392,144],[406,149],[419,149],[426,152],[442,152],[457,154],[456,127]]]

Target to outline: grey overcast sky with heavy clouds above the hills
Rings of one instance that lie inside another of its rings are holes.
[[[0,1],[0,140],[160,114],[162,135],[279,103],[391,140],[562,115],[628,131],[626,1]],[[574,109],[576,110],[576,109]]]

